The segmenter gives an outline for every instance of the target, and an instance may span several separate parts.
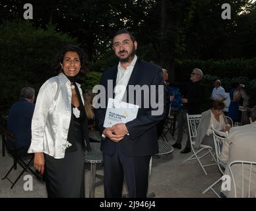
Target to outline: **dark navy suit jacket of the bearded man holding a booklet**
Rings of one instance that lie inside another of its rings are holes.
[[[162,70],[157,65],[146,63],[145,61],[137,59],[137,62],[135,63],[135,67],[133,69],[133,73],[131,74],[131,77],[126,88],[126,94],[128,97],[127,100],[123,98],[123,102],[129,102],[138,105],[138,102],[135,100],[137,97],[137,93],[133,92],[134,98],[131,99],[131,93],[129,93],[128,90],[129,85],[156,85],[156,99],[158,99],[157,85],[164,85],[164,81],[161,74]],[[115,87],[116,77],[117,65],[115,67],[112,67],[108,71],[104,72],[102,75],[100,84],[106,88],[106,105],[108,105],[108,92],[113,94],[112,90],[108,90],[108,80],[112,80],[113,87]],[[150,94],[152,92],[150,92]],[[113,96],[109,97],[113,98]],[[158,153],[156,124],[162,119],[164,119],[164,92],[160,93],[160,99],[162,98],[162,104],[159,107],[156,107],[155,109],[152,108],[152,106],[150,106],[150,95],[145,95],[145,97],[147,98],[147,100],[149,100],[149,107],[146,108],[146,100],[144,100],[144,93],[142,92],[142,100],[140,98],[141,106],[139,108],[137,118],[133,119],[133,121],[126,123],[129,135],[125,135],[123,140],[121,140],[121,142],[118,143],[121,144],[121,149],[123,150],[123,153],[126,156],[150,156],[152,154]],[[162,109],[162,114],[152,115],[151,112],[153,110],[157,110],[158,108]],[[96,125],[100,129],[101,133],[104,131],[103,125],[105,113],[106,108],[104,107],[95,110]],[[104,153],[112,156],[115,153],[116,145],[117,143],[113,142],[109,138],[104,138],[104,140],[102,140],[101,149]]]

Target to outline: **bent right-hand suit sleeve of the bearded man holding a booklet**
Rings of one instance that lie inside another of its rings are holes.
[[[133,119],[133,121],[129,121],[125,124],[129,131],[129,135],[133,140],[135,140],[135,138],[137,138],[138,136],[146,133],[146,131],[154,127],[159,121],[161,121],[165,117],[165,108],[168,102],[164,100],[166,99],[164,98],[164,80],[160,71],[160,69],[156,71],[152,80],[152,84],[149,84],[156,85],[156,91],[151,94],[155,94],[158,107],[152,108],[151,106],[146,115],[137,117],[136,119]]]

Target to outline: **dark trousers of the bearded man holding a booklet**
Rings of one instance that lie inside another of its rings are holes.
[[[129,197],[146,198],[150,157],[127,157],[123,154],[120,144],[117,144],[113,156],[104,153],[105,197],[120,198],[125,177]]]

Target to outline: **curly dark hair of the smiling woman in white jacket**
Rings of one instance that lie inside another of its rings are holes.
[[[63,58],[67,51],[77,52],[77,54],[79,55],[81,64],[79,73],[85,73],[86,71],[88,71],[88,57],[84,53],[84,51],[80,47],[77,47],[77,45],[66,45],[64,49],[60,53],[57,53],[57,55],[55,55],[53,59],[53,69],[55,74],[59,74],[62,72],[60,63],[63,63]]]

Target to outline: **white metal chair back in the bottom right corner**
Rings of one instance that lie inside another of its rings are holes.
[[[256,193],[256,162],[236,160],[228,165],[235,198],[253,198]]]

